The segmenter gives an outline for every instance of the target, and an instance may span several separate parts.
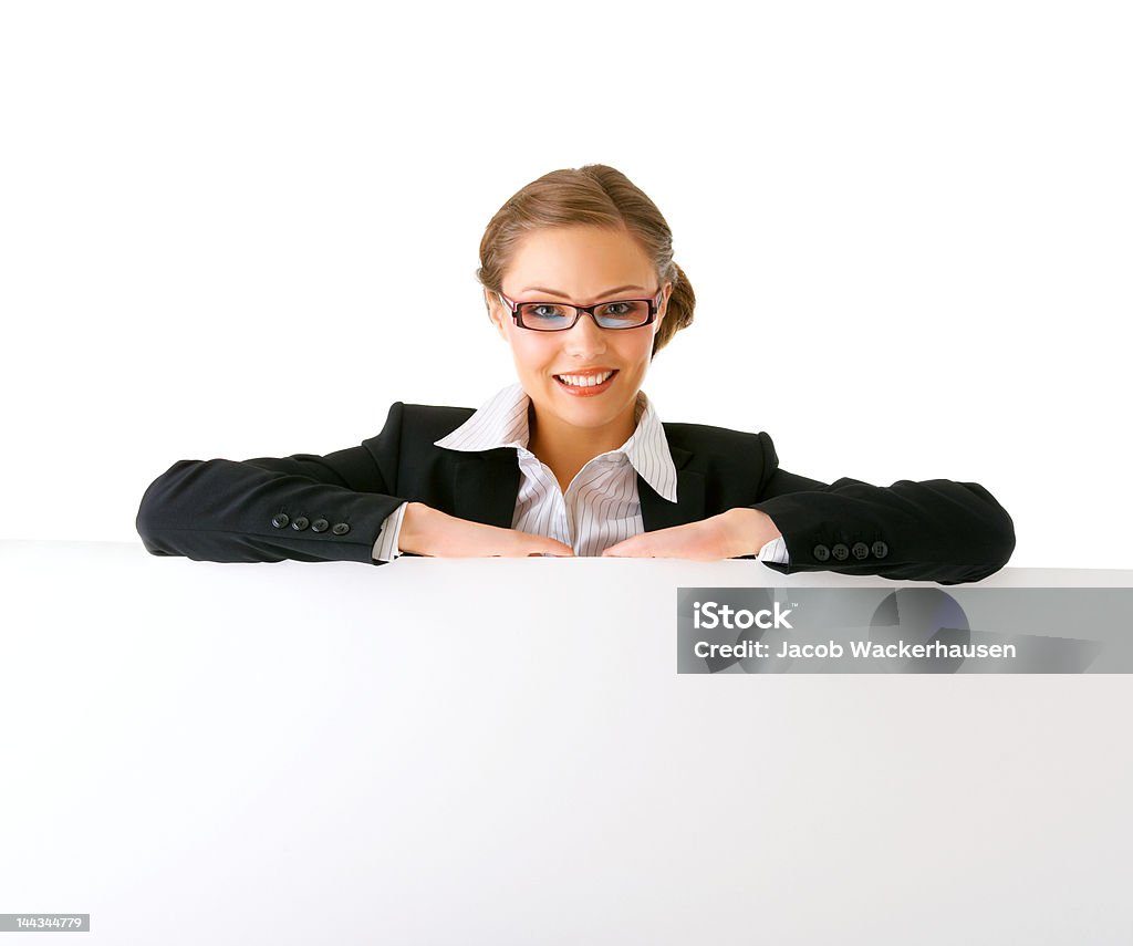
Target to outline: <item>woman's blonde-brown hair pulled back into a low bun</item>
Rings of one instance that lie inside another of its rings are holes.
[[[484,231],[476,278],[488,292],[503,291],[503,274],[527,233],[577,224],[627,231],[653,261],[661,284],[673,283],[665,317],[653,340],[656,355],[692,323],[697,297],[684,271],[673,262],[673,233],[657,205],[625,174],[606,164],[551,171],[510,197]]]

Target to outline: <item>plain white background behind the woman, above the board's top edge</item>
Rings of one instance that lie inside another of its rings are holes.
[[[825,481],[979,481],[1012,565],[1133,566],[1127,5],[739,12],[6,3],[0,537],[137,540],[178,459],[479,406],[514,377],[484,227],[602,162],[698,297],[664,419]]]

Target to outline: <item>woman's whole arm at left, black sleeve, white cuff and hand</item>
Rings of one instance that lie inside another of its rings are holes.
[[[571,555],[545,536],[469,522],[391,495],[402,408],[375,440],[325,457],[180,460],[142,497],[137,530],[153,555],[207,562],[363,562],[402,554]]]

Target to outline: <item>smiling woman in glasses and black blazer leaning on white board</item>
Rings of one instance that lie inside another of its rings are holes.
[[[155,555],[218,562],[432,556],[756,557],[944,585],[1015,547],[983,487],[833,485],[766,433],[665,424],[641,391],[696,302],[654,203],[602,164],[553,171],[492,219],[477,271],[519,375],[482,408],[403,404],[325,457],[182,460],[137,517]]]

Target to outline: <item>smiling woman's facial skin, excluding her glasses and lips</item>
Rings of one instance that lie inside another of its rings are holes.
[[[516,302],[589,306],[651,298],[659,288],[653,264],[628,232],[588,225],[528,233],[503,278],[503,295]],[[637,393],[649,367],[653,339],[664,318],[672,283],[665,283],[664,290],[657,317],[648,325],[599,329],[582,315],[571,329],[560,332],[517,325],[495,293],[488,293],[492,321],[511,346],[519,381],[544,427],[583,427],[599,435],[606,429],[632,433]],[[598,393],[580,395],[556,380],[556,375],[595,374],[595,369],[615,372]]]

